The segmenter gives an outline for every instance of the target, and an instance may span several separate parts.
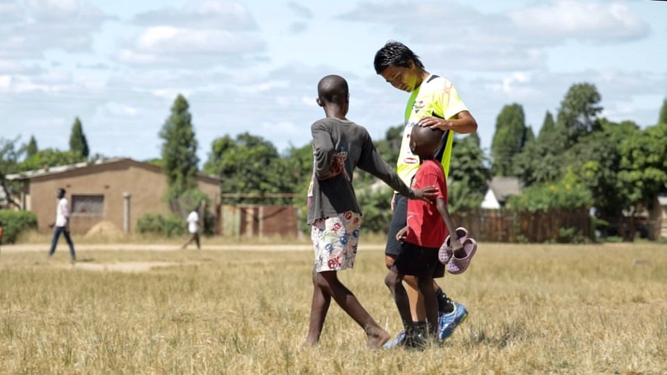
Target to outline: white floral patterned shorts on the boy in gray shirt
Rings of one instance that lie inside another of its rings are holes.
[[[315,251],[315,272],[354,267],[360,226],[361,215],[352,211],[315,220],[310,233]]]

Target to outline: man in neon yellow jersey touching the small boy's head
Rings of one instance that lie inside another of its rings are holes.
[[[373,65],[376,73],[385,78],[387,83],[391,83],[394,88],[401,91],[410,92],[408,106],[405,108],[405,129],[399,160],[396,163],[396,172],[406,185],[410,185],[412,177],[419,168],[419,157],[412,155],[410,151],[410,133],[413,126],[428,126],[444,132],[440,147],[435,153],[435,159],[440,161],[444,175],[447,177],[453,133],[468,134],[477,131],[477,122],[458,96],[456,88],[447,79],[427,72],[419,56],[401,42],[387,42],[376,53]],[[394,208],[394,215],[389,226],[385,248],[387,267],[392,267],[399,253],[400,244],[396,240],[396,233],[405,227],[407,199],[394,194],[392,208]],[[425,326],[426,313],[424,304],[420,301],[419,292],[417,292],[417,281],[410,277],[405,277],[403,280],[408,284],[412,319],[417,326]],[[433,288],[437,294],[440,313],[438,338],[444,340],[453,333],[454,328],[460,322],[463,322],[467,316],[467,310],[460,303],[449,299],[435,282]],[[399,333],[396,340],[389,342],[387,346],[401,344],[404,338],[405,334]]]

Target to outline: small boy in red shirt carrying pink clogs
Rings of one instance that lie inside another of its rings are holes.
[[[437,335],[437,299],[433,290],[433,279],[444,276],[444,265],[438,260],[438,250],[450,233],[450,249],[462,249],[455,227],[447,211],[447,182],[442,165],[433,158],[440,145],[442,131],[428,127],[413,126],[410,133],[410,150],[419,156],[421,165],[412,180],[412,189],[435,186],[438,189],[434,203],[408,201],[408,225],[396,233],[401,242],[401,251],[394,265],[385,276],[385,284],[391,290],[405,327],[406,347],[424,347],[424,334]],[[403,287],[403,276],[418,278],[419,292],[424,296],[426,308],[426,332],[412,322],[408,294]]]

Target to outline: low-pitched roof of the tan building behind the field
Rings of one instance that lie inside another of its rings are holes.
[[[46,176],[53,176],[57,177],[58,174],[63,174],[65,172],[70,172],[73,170],[85,170],[85,169],[90,169],[90,172],[94,172],[96,167],[100,165],[113,165],[113,164],[118,164],[118,163],[129,163],[131,165],[135,165],[136,167],[144,168],[144,169],[150,169],[153,172],[162,172],[162,168],[151,164],[151,163],[145,163],[145,162],[140,162],[137,160],[133,160],[130,158],[109,158],[109,159],[101,159],[101,160],[95,160],[95,161],[90,161],[90,162],[81,162],[81,163],[76,163],[76,164],[70,164],[70,165],[58,165],[56,167],[45,167],[41,169],[33,169],[31,171],[26,171],[26,172],[20,172],[17,174],[8,174],[6,178],[8,180],[30,180],[31,178],[37,178],[37,177],[46,177]],[[202,180],[208,180],[209,182],[220,182],[222,181],[222,178],[218,176],[211,176],[209,174],[203,174],[201,172],[198,172],[197,177]]]

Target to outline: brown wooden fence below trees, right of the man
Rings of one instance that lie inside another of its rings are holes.
[[[478,241],[570,242],[590,233],[588,210],[514,212],[511,210],[469,210],[453,213],[453,222],[465,226]]]

